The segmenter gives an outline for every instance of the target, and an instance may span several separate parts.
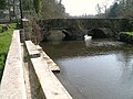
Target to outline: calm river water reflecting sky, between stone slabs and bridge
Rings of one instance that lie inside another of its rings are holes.
[[[74,99],[133,99],[133,46],[114,40],[41,44]]]

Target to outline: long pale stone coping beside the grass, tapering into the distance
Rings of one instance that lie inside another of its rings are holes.
[[[0,85],[0,99],[27,99],[19,30],[13,31]]]

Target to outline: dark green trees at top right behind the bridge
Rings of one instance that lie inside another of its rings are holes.
[[[108,16],[133,19],[133,0],[115,0],[109,9]]]

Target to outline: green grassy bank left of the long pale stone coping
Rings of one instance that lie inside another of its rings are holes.
[[[1,30],[2,28],[0,28]],[[4,68],[6,57],[11,43],[13,30],[17,29],[16,23],[9,24],[9,30],[0,33],[0,80]]]

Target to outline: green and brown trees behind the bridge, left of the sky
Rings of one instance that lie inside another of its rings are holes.
[[[61,0],[22,0],[22,8],[35,19],[64,18]]]

